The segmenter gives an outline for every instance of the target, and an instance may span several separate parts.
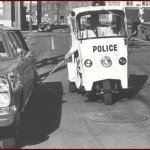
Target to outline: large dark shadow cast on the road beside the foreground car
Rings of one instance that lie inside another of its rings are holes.
[[[21,120],[20,148],[46,141],[59,128],[62,96],[61,82],[45,82],[33,91]]]

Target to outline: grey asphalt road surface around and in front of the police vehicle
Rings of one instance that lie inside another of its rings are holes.
[[[44,79],[70,47],[67,32],[33,32],[27,43]],[[150,148],[150,41],[129,44],[129,86],[111,106],[68,91],[66,63],[36,87],[22,119],[21,148]]]

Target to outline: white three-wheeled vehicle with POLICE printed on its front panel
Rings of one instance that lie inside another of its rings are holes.
[[[68,14],[72,45],[69,90],[102,95],[106,105],[128,89],[127,21],[122,7],[89,6]]]

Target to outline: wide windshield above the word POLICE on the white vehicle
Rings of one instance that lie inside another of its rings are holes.
[[[124,12],[100,10],[77,16],[78,39],[126,36]]]

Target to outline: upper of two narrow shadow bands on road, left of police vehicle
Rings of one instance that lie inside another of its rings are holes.
[[[37,69],[42,68],[47,65],[55,65],[64,59],[64,55],[59,55],[52,58],[44,58],[40,61],[37,61]]]

